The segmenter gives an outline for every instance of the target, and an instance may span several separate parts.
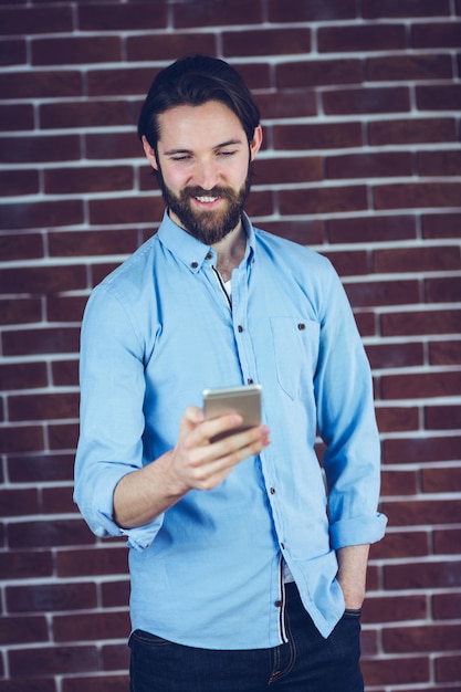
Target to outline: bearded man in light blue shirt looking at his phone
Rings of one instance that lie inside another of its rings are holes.
[[[138,133],[167,211],[88,301],[75,482],[93,531],[128,537],[132,692],[358,692],[386,520],[345,293],[245,216],[262,130],[227,63],[161,71]],[[263,424],[212,441],[241,418],[205,420],[202,390],[251,382]]]

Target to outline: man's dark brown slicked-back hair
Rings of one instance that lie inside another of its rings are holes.
[[[208,55],[180,57],[155,77],[143,104],[138,135],[157,150],[157,116],[175,106],[200,106],[220,101],[239,118],[249,141],[260,123],[260,112],[240,74],[223,60]]]

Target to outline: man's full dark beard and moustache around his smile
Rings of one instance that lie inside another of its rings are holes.
[[[165,184],[160,168],[157,170],[157,177],[165,203],[179,219],[185,231],[201,243],[213,245],[233,231],[240,222],[251,189],[252,168],[250,162],[247,179],[238,191],[219,186],[214,186],[211,190],[189,186],[179,195],[175,195]],[[197,210],[192,207],[192,197],[220,197],[227,201],[227,205],[222,211]]]

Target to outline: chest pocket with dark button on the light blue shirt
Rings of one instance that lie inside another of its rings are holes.
[[[271,317],[276,376],[291,399],[313,387],[318,358],[319,324],[298,317]]]

